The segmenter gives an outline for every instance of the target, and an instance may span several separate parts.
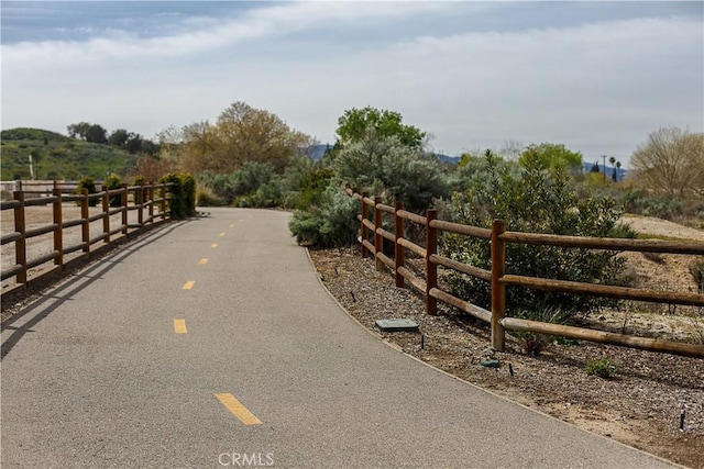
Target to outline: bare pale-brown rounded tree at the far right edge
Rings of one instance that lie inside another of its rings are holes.
[[[630,158],[638,183],[670,197],[704,194],[704,133],[662,127]]]

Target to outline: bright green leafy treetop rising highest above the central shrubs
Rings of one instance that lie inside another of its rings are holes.
[[[420,148],[427,134],[418,127],[403,123],[398,112],[366,107],[344,111],[338,120],[338,138],[342,145],[364,139],[373,130],[380,139],[397,137],[402,145]]]

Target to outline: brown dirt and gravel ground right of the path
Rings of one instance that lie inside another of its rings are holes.
[[[640,233],[704,241],[704,232],[658,219],[624,221]],[[420,333],[380,333],[404,351],[590,432],[704,468],[704,360],[574,340],[547,340],[542,353],[532,356],[526,339],[517,336],[507,337],[506,353],[496,353],[486,325],[450,309],[426,315],[419,295],[396,288],[391,272],[376,272],[373,260],[361,258],[359,250],[311,249],[310,255],[323,284],[365,327],[375,330],[376,320],[389,317],[419,324]],[[689,272],[693,256],[626,256],[640,287],[696,292]],[[623,302],[584,322],[593,328],[704,346],[704,316],[692,306]],[[610,379],[585,371],[587,362],[602,357],[618,366]],[[499,360],[498,370],[482,367],[490,358]]]

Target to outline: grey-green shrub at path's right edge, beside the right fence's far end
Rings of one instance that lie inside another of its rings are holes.
[[[319,247],[343,246],[354,242],[359,202],[348,197],[339,180],[330,181],[316,205],[294,212],[288,227],[298,244]]]

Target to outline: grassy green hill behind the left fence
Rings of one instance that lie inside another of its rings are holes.
[[[35,179],[77,180],[91,176],[102,180],[112,172],[124,177],[135,164],[135,156],[123,149],[41,129],[2,131],[0,148],[0,179],[3,181],[31,179],[30,154]]]

